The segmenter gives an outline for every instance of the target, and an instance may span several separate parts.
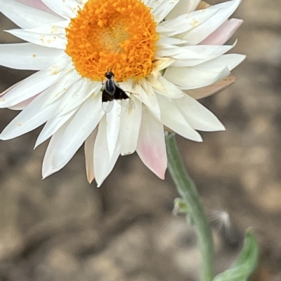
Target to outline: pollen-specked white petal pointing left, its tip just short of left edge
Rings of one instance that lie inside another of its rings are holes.
[[[65,37],[65,26],[67,21],[55,22],[52,25],[32,29],[11,29],[6,32],[18,38],[48,48],[65,49],[67,39]]]

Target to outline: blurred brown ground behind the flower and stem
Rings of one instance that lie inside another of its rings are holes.
[[[211,4],[218,1],[211,1]],[[281,280],[281,1],[244,0],[244,24],[233,52],[247,60],[237,83],[202,100],[226,125],[201,144],[178,138],[207,210],[230,214],[237,231],[252,226],[261,245],[254,281]],[[0,29],[13,24],[3,16]],[[1,43],[15,42],[1,32]],[[31,72],[0,67],[0,90]],[[1,109],[2,130],[17,114]],[[40,129],[39,129],[40,130]],[[134,154],[119,158],[100,189],[89,185],[83,149],[60,172],[41,180],[46,143],[39,130],[0,144],[1,281],[195,281],[196,237],[173,217],[177,197]],[[216,270],[227,268],[241,240],[214,233]]]

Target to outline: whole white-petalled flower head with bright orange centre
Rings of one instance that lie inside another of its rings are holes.
[[[22,110],[1,139],[46,123],[35,144],[51,137],[43,177],[85,142],[87,177],[98,186],[134,151],[163,179],[164,126],[196,142],[197,130],[224,130],[192,95],[223,88],[244,60],[222,45],[242,23],[228,20],[240,2],[0,0],[20,27],[7,32],[27,41],[1,44],[0,64],[38,71],[1,94],[1,108]]]

